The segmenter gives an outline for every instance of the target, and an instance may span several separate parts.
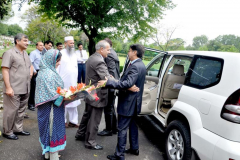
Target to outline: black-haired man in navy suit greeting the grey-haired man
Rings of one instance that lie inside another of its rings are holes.
[[[118,95],[118,144],[114,155],[108,155],[111,160],[124,160],[124,152],[139,155],[138,128],[136,117],[141,112],[142,94],[146,76],[146,67],[142,62],[144,47],[139,44],[130,46],[128,57],[131,61],[119,81],[102,80],[98,85],[106,83],[106,87],[119,89]],[[139,92],[125,90],[136,85]],[[125,150],[127,130],[129,128],[130,149]]]

